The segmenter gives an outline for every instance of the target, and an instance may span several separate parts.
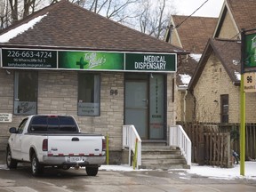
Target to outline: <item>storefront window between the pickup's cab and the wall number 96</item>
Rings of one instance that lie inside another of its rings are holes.
[[[78,116],[100,116],[100,75],[78,74]]]

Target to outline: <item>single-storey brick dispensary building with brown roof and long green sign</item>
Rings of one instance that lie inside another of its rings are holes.
[[[0,31],[0,48],[0,116],[11,116],[2,150],[29,114],[72,115],[82,132],[108,134],[110,163],[120,163],[124,124],[149,141],[175,124],[177,46],[61,0]]]

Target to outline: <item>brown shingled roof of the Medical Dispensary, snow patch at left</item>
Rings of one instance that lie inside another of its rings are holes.
[[[0,45],[120,52],[183,52],[172,44],[127,28],[67,0],[45,7],[0,31],[0,42],[1,35],[28,25],[29,21],[39,17],[41,20],[33,27]]]

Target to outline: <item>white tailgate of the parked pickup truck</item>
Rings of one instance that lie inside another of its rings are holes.
[[[90,134],[49,135],[48,155],[52,156],[101,156],[102,136]]]

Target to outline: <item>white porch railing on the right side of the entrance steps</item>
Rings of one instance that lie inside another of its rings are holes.
[[[182,155],[186,158],[187,164],[191,165],[192,145],[187,133],[181,125],[169,126],[169,145],[178,146]]]

